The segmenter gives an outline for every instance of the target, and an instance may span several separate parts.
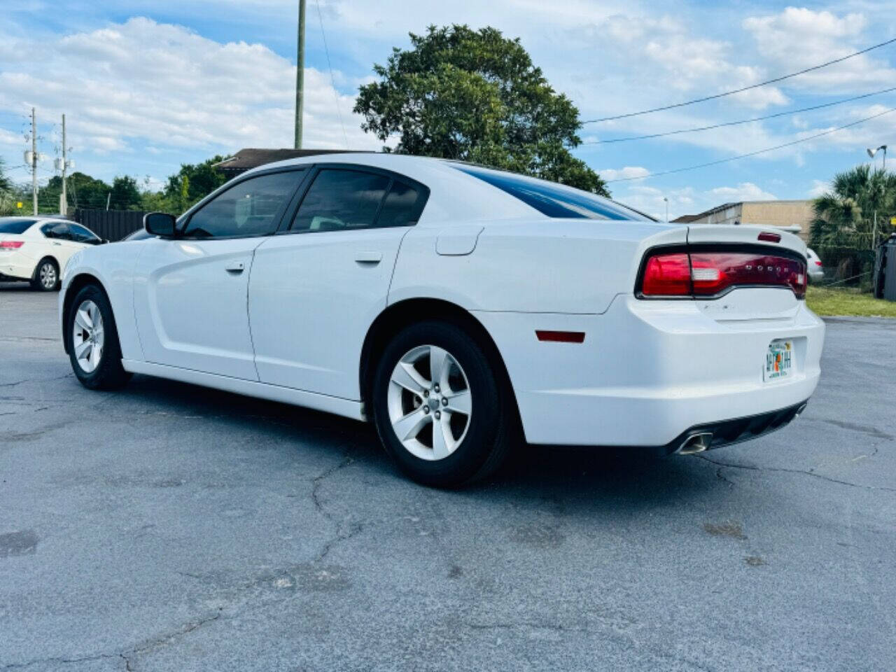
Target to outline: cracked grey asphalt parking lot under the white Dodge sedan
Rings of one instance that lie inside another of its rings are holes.
[[[896,322],[702,456],[524,448],[442,492],[341,418],[74,379],[0,285],[0,670],[896,668]]]

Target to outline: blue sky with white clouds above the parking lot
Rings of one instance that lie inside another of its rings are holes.
[[[320,7],[320,16],[318,15]],[[896,37],[893,2],[642,2],[642,0],[308,0],[306,145],[378,149],[351,114],[358,85],[409,31],[428,23],[492,25],[521,38],[582,119],[711,95],[845,56]],[[182,162],[292,142],[296,0],[6,0],[0,28],[0,156],[25,181],[24,134],[38,109],[40,150],[54,174],[59,116],[77,169],[160,184]],[[321,22],[323,21],[323,33]],[[332,74],[323,49],[325,34]],[[335,88],[333,87],[335,84]],[[586,142],[662,133],[806,108],[896,86],[896,45],[774,86],[582,129]],[[712,168],[650,174],[762,150],[896,108],[896,92],[715,131],[576,154],[614,196],[651,213],[722,202],[801,199],[896,147],[896,113],[787,149]]]

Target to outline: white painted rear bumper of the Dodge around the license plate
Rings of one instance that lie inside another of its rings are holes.
[[[824,325],[803,302],[775,319],[728,322],[694,301],[631,296],[599,315],[476,316],[504,357],[532,444],[668,446],[696,427],[798,407],[820,375]],[[586,337],[540,342],[537,329]],[[793,340],[794,369],[766,383],[778,339]]]

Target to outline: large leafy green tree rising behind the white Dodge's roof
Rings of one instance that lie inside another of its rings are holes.
[[[547,83],[519,39],[500,30],[430,26],[410,33],[374,65],[376,82],[360,87],[362,128],[392,151],[460,159],[543,177],[608,195],[597,173],[573,157],[581,144],[579,110]],[[385,151],[389,151],[386,149]]]

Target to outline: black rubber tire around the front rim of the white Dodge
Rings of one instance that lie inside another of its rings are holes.
[[[85,371],[79,364],[74,343],[75,314],[84,301],[88,300],[99,307],[105,340],[99,365],[90,372]],[[116,390],[131,379],[131,374],[121,366],[121,345],[118,342],[118,330],[112,306],[109,304],[106,292],[97,285],[87,285],[75,295],[68,314],[65,315],[65,346],[68,349],[74,375],[89,390]]]

